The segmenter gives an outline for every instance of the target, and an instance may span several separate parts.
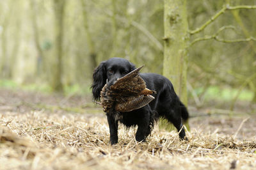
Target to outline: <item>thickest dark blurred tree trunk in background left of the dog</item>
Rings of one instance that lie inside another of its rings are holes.
[[[53,68],[52,88],[54,91],[63,91],[61,75],[63,72],[62,66],[62,46],[63,46],[63,15],[64,15],[65,0],[54,0],[55,13],[55,50],[54,57],[56,58]]]

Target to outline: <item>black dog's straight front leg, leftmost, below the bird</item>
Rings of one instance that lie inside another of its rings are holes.
[[[118,130],[118,123],[115,122],[115,119],[113,118],[113,116],[111,116],[111,114],[107,114],[108,116],[108,125],[109,125],[109,133],[110,133],[110,143],[111,144],[116,144],[118,143],[118,134],[117,134],[117,130]]]

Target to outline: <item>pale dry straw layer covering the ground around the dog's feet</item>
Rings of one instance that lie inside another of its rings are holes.
[[[103,114],[0,112],[0,169],[255,169],[256,142],[192,128],[189,141],[156,127],[147,143],[120,126],[109,145]]]

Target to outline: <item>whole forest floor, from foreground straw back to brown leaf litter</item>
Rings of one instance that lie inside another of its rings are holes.
[[[156,125],[137,143],[120,126],[110,146],[90,96],[0,89],[0,169],[256,169],[256,115],[212,109],[189,107],[188,141]]]

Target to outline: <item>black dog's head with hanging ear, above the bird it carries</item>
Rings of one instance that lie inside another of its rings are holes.
[[[115,82],[134,69],[136,69],[135,65],[124,58],[111,58],[102,61],[93,72],[93,98],[99,100],[100,91],[106,82]]]

